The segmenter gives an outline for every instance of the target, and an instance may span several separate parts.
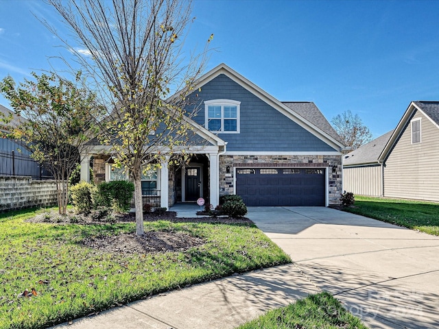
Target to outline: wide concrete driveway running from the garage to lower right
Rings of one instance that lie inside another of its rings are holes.
[[[331,208],[253,207],[248,217],[370,328],[439,328],[439,238]]]

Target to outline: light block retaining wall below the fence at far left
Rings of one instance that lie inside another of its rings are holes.
[[[0,176],[0,212],[57,204],[55,180]]]

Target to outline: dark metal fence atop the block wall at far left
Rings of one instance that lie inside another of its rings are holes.
[[[31,176],[33,180],[52,180],[54,176],[40,163],[16,151],[0,151],[1,176]]]

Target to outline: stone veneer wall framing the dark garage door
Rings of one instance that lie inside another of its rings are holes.
[[[260,164],[276,167],[329,167],[329,204],[340,204],[342,194],[342,156],[219,156],[219,195],[233,194],[234,164]],[[230,167],[230,173],[226,173]]]

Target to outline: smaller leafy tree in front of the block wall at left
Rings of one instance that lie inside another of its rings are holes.
[[[95,94],[58,75],[36,75],[16,86],[12,77],[0,81],[0,92],[10,101],[16,114],[27,120],[11,129],[10,136],[32,150],[32,158],[54,175],[58,208],[62,215],[69,201],[69,177],[80,155],[88,148],[87,132],[91,117],[99,116]]]

